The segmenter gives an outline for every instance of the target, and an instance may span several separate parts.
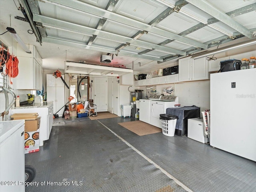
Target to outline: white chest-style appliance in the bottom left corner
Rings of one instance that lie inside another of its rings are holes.
[[[24,123],[0,122],[0,191],[25,192]]]

